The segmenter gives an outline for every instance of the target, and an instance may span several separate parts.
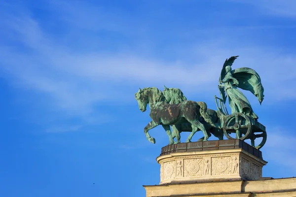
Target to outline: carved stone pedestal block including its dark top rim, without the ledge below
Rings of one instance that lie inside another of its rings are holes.
[[[239,140],[165,146],[156,159],[160,184],[209,179],[258,180],[265,162],[258,149]]]

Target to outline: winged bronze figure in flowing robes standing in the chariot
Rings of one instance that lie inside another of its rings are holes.
[[[261,84],[261,79],[259,74],[252,68],[241,67],[232,70],[231,66],[237,57],[238,56],[232,56],[226,59],[222,67],[219,79],[220,94],[224,103],[228,97],[231,113],[244,113],[257,120],[258,116],[254,113],[249,100],[237,88],[250,91],[257,97],[261,104],[264,98],[264,89]]]

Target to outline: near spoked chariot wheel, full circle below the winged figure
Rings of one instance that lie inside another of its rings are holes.
[[[252,131],[252,123],[247,115],[233,113],[228,115],[223,122],[223,133],[228,139],[244,140],[249,138]],[[236,133],[236,138],[231,137],[230,133]]]

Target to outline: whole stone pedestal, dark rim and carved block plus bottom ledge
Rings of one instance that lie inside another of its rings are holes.
[[[156,160],[160,184],[146,197],[296,197],[296,178],[262,178],[267,162],[239,139],[165,146]]]

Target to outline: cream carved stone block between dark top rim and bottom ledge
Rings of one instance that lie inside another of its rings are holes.
[[[189,142],[194,143],[194,142]],[[159,156],[160,184],[203,179],[258,180],[267,162],[242,148],[175,152]]]

